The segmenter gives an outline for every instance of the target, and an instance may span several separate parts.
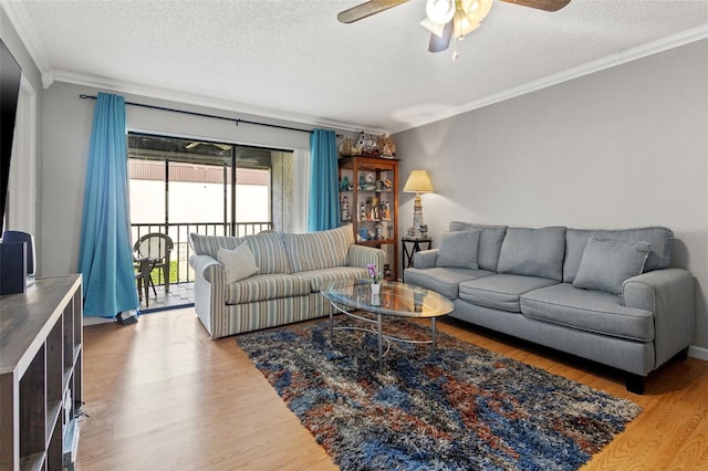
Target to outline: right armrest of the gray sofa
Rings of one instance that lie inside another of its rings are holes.
[[[696,322],[694,276],[681,269],[655,270],[626,280],[624,305],[654,313],[655,368],[689,346]]]

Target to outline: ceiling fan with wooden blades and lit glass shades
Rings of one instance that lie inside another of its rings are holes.
[[[353,23],[372,14],[405,3],[408,0],[369,0],[336,15],[342,23]],[[501,0],[545,11],[556,11],[571,0]],[[441,52],[450,40],[461,40],[475,31],[491,9],[493,0],[427,0],[426,18],[420,22],[430,32],[428,51]],[[457,51],[452,55],[457,59]]]

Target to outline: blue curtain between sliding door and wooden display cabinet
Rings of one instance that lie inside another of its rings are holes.
[[[314,129],[310,137],[310,205],[308,231],[340,226],[340,176],[336,163],[336,134]]]

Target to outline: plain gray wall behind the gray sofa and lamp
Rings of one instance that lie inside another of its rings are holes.
[[[694,345],[708,354],[708,41],[394,136],[434,238],[449,221],[573,228],[667,226],[696,279]],[[413,196],[402,195],[399,227]],[[702,348],[702,349],[701,349]]]

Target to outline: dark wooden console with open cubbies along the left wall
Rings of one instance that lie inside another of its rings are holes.
[[[81,282],[38,279],[0,296],[0,470],[63,468],[82,405]]]

